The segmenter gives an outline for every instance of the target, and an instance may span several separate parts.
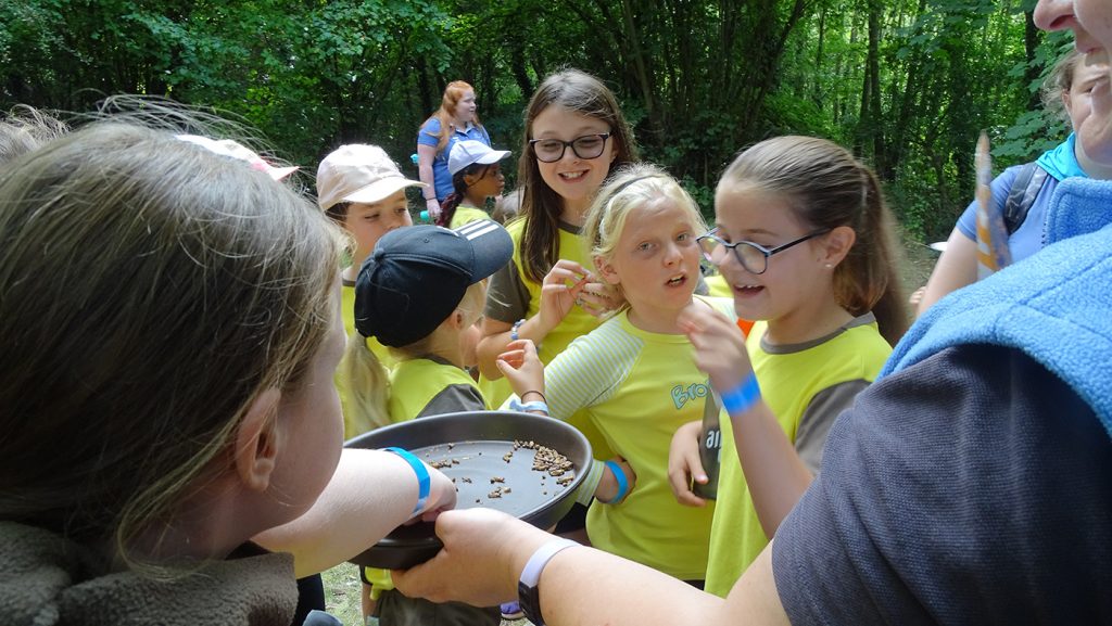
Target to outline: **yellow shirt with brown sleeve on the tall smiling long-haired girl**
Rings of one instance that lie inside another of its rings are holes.
[[[490,319],[506,324],[528,319],[540,310],[540,282],[526,277],[522,262],[522,238],[525,235],[525,218],[519,218],[506,225],[506,230],[509,231],[509,236],[514,240],[513,262],[490,277],[487,290],[485,315]],[[558,250],[558,257],[562,259],[576,261],[588,270],[594,267],[582,239],[579,239],[578,227],[559,222]],[[599,324],[597,318],[582,308],[572,307],[564,320],[537,346],[537,356],[540,358],[540,362],[545,365],[552,362],[553,358],[564,351],[574,339],[598,328]],[[505,378],[487,380],[480,377],[479,388],[483,389],[483,395],[493,406],[503,404],[513,394],[509,382]],[[575,415],[568,418],[567,423],[578,428],[587,437],[595,451],[595,458],[607,459],[614,456],[609,445],[586,417]]]

